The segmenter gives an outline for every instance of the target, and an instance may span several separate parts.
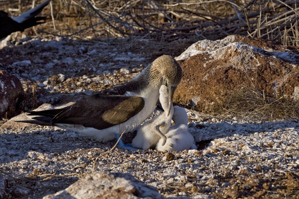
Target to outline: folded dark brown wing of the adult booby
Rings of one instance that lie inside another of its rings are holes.
[[[51,120],[51,124],[81,124],[84,127],[102,130],[126,122],[144,106],[144,99],[138,96],[95,94],[85,96],[62,109]],[[51,110],[48,111],[49,113],[43,111],[43,115],[51,115]],[[35,114],[38,115],[38,112]]]

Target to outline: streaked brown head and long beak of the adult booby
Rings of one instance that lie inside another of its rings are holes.
[[[172,105],[174,91],[183,75],[182,68],[177,61],[169,55],[163,55],[156,58],[152,62],[152,66],[154,70],[159,70],[160,75],[162,75],[161,83],[168,88],[168,116]]]

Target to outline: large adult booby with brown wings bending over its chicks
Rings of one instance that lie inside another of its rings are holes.
[[[156,107],[162,84],[167,86],[170,107],[181,77],[182,69],[177,61],[163,55],[126,84],[81,97],[65,108],[31,111],[28,115],[37,117],[18,122],[57,126],[101,141],[111,140],[115,133],[135,130],[149,117]]]

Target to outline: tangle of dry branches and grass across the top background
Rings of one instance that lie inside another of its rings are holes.
[[[17,15],[31,3],[2,0],[0,7]],[[52,0],[52,5],[55,21],[44,32],[53,36],[197,41],[242,34],[299,46],[299,3],[294,0]],[[50,12],[48,6],[43,14]]]

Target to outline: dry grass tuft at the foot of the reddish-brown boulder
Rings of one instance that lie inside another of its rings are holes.
[[[299,103],[290,96],[273,98],[256,88],[245,87],[232,92],[230,98],[214,111],[223,116],[234,115],[247,119],[299,118]]]

